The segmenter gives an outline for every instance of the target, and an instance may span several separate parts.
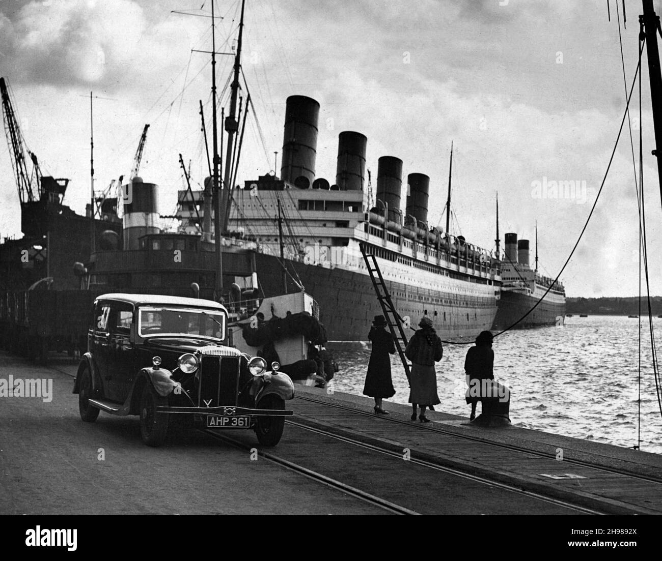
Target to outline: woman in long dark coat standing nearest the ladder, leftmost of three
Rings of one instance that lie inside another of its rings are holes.
[[[370,333],[368,333],[368,339],[372,341],[372,352],[365,376],[363,395],[375,398],[377,415],[389,414],[388,411],[381,408],[381,400],[395,396],[391,381],[391,357],[389,357],[395,353],[395,344],[393,335],[384,329],[386,325],[384,316],[375,316]]]

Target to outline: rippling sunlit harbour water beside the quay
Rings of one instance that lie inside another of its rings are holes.
[[[662,319],[653,326],[662,357]],[[369,331],[366,326],[365,332]],[[513,330],[496,337],[495,377],[510,386],[513,425],[632,447],[638,444],[639,320],[624,316],[566,318],[561,327]],[[655,396],[647,318],[641,318],[641,450],[662,454],[662,420]],[[444,345],[437,363],[440,406],[469,416],[464,358],[470,345]],[[334,389],[361,395],[370,357],[336,351]],[[406,404],[409,388],[396,353],[391,359],[393,402]],[[478,406],[480,412],[481,405]]]

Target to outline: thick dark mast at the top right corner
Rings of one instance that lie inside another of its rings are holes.
[[[662,75],[660,75],[660,57],[657,50],[657,30],[660,19],[653,9],[653,0],[643,0],[643,15],[639,16],[641,33],[645,35],[646,54],[648,56],[648,75],[651,83],[651,105],[653,108],[653,128],[655,129],[655,150],[657,157],[657,177],[660,196],[662,196]],[[645,31],[644,31],[645,30]]]

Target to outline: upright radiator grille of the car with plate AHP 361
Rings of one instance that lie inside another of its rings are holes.
[[[240,353],[228,347],[203,349],[200,357],[199,407],[237,405]]]

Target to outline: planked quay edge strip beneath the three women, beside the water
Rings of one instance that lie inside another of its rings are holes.
[[[479,427],[467,417],[438,411],[427,411],[433,422],[422,424],[410,421],[408,406],[385,402],[387,417],[375,415],[372,406],[369,398],[303,388],[295,419],[594,511],[662,513],[660,454],[512,426]]]

